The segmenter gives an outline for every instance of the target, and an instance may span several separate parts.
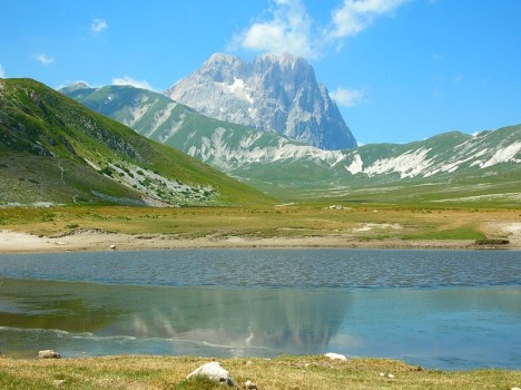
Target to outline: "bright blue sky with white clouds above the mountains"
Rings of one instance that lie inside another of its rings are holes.
[[[0,77],[163,91],[214,52],[305,57],[361,144],[521,123],[520,0],[4,0]]]

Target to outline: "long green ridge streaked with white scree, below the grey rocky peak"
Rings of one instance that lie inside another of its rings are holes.
[[[453,131],[405,145],[323,150],[277,133],[205,117],[160,94],[130,86],[68,94],[279,198],[406,202],[423,196],[439,202],[454,197],[460,188],[459,198],[474,196],[479,202],[479,196],[497,194],[505,204],[520,202],[515,186],[521,185],[521,125],[475,136]]]

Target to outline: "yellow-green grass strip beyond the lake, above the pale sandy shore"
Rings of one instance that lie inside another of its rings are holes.
[[[480,240],[504,237],[498,224],[521,211],[325,205],[260,207],[51,207],[0,208],[0,230],[56,235],[76,228],[180,237],[299,237],[331,234],[353,240]]]

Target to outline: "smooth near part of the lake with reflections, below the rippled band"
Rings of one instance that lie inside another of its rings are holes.
[[[520,369],[521,289],[217,289],[0,279],[0,350],[36,357],[336,351]]]

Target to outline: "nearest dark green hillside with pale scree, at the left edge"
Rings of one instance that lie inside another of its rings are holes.
[[[0,79],[0,205],[269,202],[30,79]]]

